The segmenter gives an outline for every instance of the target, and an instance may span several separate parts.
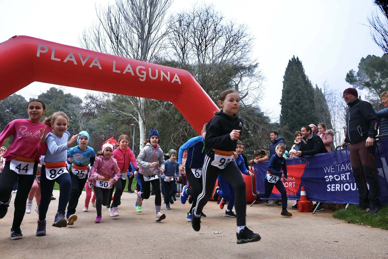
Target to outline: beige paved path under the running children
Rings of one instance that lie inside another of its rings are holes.
[[[388,258],[388,232],[333,219],[331,213],[298,213],[281,217],[279,206],[263,203],[247,207],[248,227],[260,233],[256,243],[236,244],[236,219],[223,217],[210,201],[195,232],[186,221],[189,204],[173,204],[162,210],[166,219],[155,222],[153,197],[135,212],[135,194],[123,193],[120,217],[109,217],[103,207],[102,222],[95,224],[95,209],[82,212],[85,192],[77,207],[74,226],[55,228],[57,200],[47,214],[47,235],[35,236],[37,215],[26,214],[21,226],[23,239],[10,240],[13,206],[0,220],[0,258]],[[13,204],[13,200],[12,203]],[[289,207],[292,201],[289,201]],[[35,207],[35,200],[34,206]],[[164,208],[164,206],[163,206]],[[291,211],[291,209],[290,209]],[[213,234],[220,231],[221,234]]]

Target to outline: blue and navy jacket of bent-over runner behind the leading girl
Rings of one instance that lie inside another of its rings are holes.
[[[205,144],[202,135],[190,138],[179,148],[178,164],[182,164],[183,152],[187,150],[187,159],[185,165],[189,168],[202,168],[205,159]]]

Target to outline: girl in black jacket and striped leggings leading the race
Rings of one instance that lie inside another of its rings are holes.
[[[242,130],[242,121],[236,115],[239,109],[239,96],[236,90],[228,89],[220,94],[219,99],[221,112],[206,125],[204,140],[206,156],[202,168],[203,190],[193,210],[192,227],[195,231],[201,229],[202,209],[210,199],[220,173],[236,193],[237,243],[256,242],[260,240],[260,235],[246,227],[246,186],[233,154]]]

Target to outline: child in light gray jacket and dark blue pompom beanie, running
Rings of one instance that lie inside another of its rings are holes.
[[[162,197],[160,194],[160,182],[158,172],[163,174],[165,169],[165,159],[163,150],[159,147],[159,132],[152,128],[148,133],[148,143],[140,151],[137,156],[136,163],[139,165],[140,181],[142,183],[143,192],[137,193],[137,201],[135,208],[137,212],[141,212],[143,199],[147,200],[151,194],[151,185],[155,192],[155,221],[161,221],[166,218],[165,214],[160,213]]]

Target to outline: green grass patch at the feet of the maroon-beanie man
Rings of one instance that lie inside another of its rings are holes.
[[[388,230],[388,206],[383,206],[378,213],[372,215],[367,214],[365,210],[357,211],[356,208],[357,205],[349,205],[346,210],[341,209],[334,212],[333,217],[348,223]]]

